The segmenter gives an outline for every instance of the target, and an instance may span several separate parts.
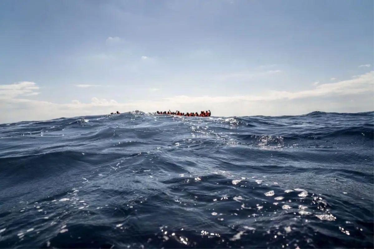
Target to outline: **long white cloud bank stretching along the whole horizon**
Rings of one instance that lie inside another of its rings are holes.
[[[43,120],[59,117],[100,115],[114,111],[127,112],[136,109],[155,112],[169,109],[183,111],[211,109],[214,116],[243,115],[295,115],[310,111],[369,111],[374,109],[370,101],[374,92],[374,71],[336,83],[318,84],[303,91],[269,91],[263,95],[238,96],[173,96],[153,100],[137,100],[120,103],[93,97],[90,103],[73,100],[57,104],[28,99],[25,94],[40,90],[33,82],[0,85],[0,123],[21,120]],[[347,101],[347,98],[354,102]],[[9,108],[18,108],[17,112]]]

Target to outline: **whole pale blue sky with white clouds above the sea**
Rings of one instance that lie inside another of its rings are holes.
[[[374,111],[373,0],[2,0],[0,123]]]

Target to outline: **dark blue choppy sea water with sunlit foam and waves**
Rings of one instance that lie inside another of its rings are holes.
[[[0,248],[373,248],[374,112],[0,125]]]

